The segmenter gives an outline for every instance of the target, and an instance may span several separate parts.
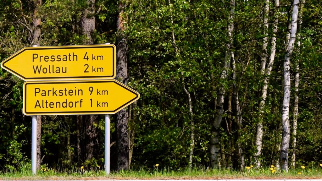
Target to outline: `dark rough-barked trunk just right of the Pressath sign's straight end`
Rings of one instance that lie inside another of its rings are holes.
[[[128,42],[124,34],[126,16],[124,14],[125,5],[122,2],[118,5],[117,34],[116,34],[116,59],[117,79],[127,85],[128,81]],[[117,131],[117,170],[127,170],[129,168],[129,140],[128,140],[128,111],[127,108],[120,110],[116,118]]]

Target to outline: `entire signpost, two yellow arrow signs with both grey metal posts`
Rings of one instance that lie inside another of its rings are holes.
[[[114,80],[116,47],[24,47],[1,62],[24,82],[24,115],[32,116],[31,170],[37,173],[37,116],[105,114],[105,172],[110,170],[110,117],[140,94]]]

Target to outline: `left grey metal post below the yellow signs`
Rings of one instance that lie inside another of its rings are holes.
[[[33,175],[36,175],[36,163],[37,163],[37,116],[32,116],[32,128],[31,128],[31,171]]]

